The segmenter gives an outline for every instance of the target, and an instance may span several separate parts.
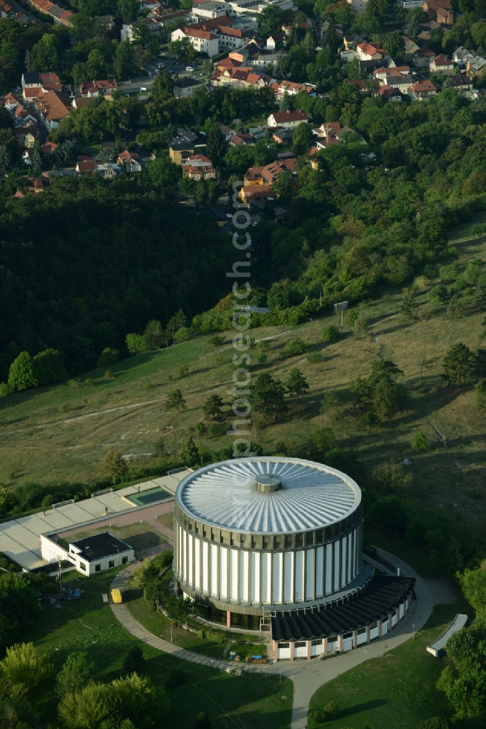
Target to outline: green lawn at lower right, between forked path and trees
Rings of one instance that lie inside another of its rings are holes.
[[[436,606],[415,639],[318,689],[310,700],[310,712],[337,701],[340,711],[325,723],[326,729],[418,729],[430,717],[450,717],[447,698],[436,689],[445,660],[433,658],[426,646],[442,634],[456,612],[455,604]],[[309,714],[309,729],[322,725]]]

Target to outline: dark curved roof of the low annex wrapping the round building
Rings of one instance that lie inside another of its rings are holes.
[[[326,609],[299,609],[272,617],[272,638],[275,641],[312,640],[341,635],[380,620],[394,612],[415,585],[415,577],[393,577],[376,574],[369,588],[348,602]]]

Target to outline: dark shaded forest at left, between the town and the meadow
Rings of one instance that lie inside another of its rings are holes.
[[[127,332],[226,293],[230,238],[147,182],[65,179],[1,212],[1,379],[19,351],[93,367]]]

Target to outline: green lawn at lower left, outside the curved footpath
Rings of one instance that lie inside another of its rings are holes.
[[[36,623],[23,636],[37,646],[52,652],[55,671],[72,652],[85,650],[95,662],[95,680],[119,677],[128,648],[137,643],[117,622],[102,594],[109,591],[117,569],[94,577],[66,574],[66,588],[76,585],[83,590],[79,601],[39,612]],[[237,725],[262,725],[269,729],[289,729],[291,722],[292,685],[288,680],[258,676],[232,677],[211,668],[187,663],[141,644],[146,663],[144,673],[160,685],[174,668],[184,671],[185,681],[170,691],[170,706],[164,714],[164,725],[191,729],[197,714],[205,711],[214,729]],[[284,699],[281,697],[285,696]],[[55,727],[57,700],[51,686],[43,686],[35,697],[39,721]]]

